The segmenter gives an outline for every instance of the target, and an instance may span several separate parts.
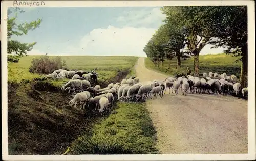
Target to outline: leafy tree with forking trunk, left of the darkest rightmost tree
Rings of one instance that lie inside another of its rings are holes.
[[[185,32],[185,42],[191,55],[194,55],[195,76],[199,75],[199,53],[211,39],[209,35],[207,6],[168,6],[161,10],[167,20],[175,22]]]

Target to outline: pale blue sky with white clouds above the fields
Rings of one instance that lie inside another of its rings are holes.
[[[163,24],[160,7],[22,8],[17,24],[42,18],[39,28],[13,36],[37,42],[28,55],[97,55],[146,57],[144,46]],[[13,16],[12,14],[9,15]],[[200,55],[222,53],[206,45]]]

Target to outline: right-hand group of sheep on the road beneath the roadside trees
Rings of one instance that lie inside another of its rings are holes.
[[[219,75],[218,73],[209,72],[209,76],[207,76],[207,73],[203,73],[203,78],[201,79],[191,75],[178,78],[169,77],[165,80],[165,85],[169,90],[174,90],[176,95],[178,94],[178,90],[181,89],[182,95],[187,95],[188,92],[207,92],[209,94],[219,93],[226,96],[231,93],[238,95],[241,92],[244,97],[247,97],[247,87],[241,89],[241,84],[237,81],[235,75],[227,76],[226,73]]]

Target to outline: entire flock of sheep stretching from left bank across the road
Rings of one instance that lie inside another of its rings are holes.
[[[96,77],[95,77],[96,76]],[[71,80],[61,87],[61,90],[68,93],[74,91],[74,98],[69,101],[72,108],[85,109],[90,104],[95,106],[101,114],[105,110],[112,108],[114,101],[145,101],[146,98],[153,99],[159,95],[161,98],[165,94],[167,88],[172,90],[172,93],[178,95],[179,90],[182,95],[190,93],[216,93],[231,94],[239,92],[245,97],[248,94],[247,88],[241,89],[241,84],[237,82],[235,75],[227,76],[226,73],[218,75],[217,73],[209,72],[209,76],[203,73],[203,78],[194,77],[191,75],[181,77],[169,77],[164,81],[147,81],[139,82],[138,77],[122,79],[122,81],[110,83],[107,87],[101,88],[100,85],[91,87],[91,82],[97,83],[97,75],[94,72],[86,73],[84,71],[66,71],[56,70],[47,78],[71,78]]]

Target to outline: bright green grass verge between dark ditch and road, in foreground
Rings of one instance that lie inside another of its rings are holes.
[[[93,135],[75,140],[68,154],[157,154],[156,130],[146,104],[118,102],[115,111],[93,127]]]

